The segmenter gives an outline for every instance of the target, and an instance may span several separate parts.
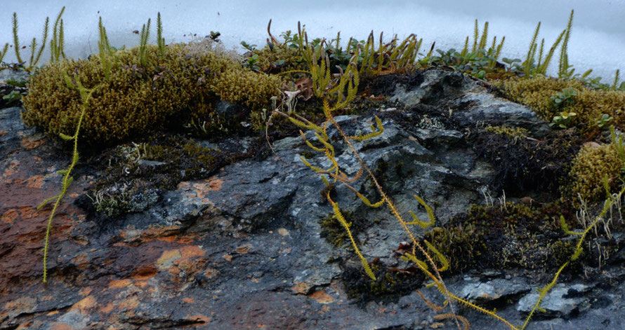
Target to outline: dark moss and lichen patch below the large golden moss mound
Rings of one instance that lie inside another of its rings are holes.
[[[180,181],[209,177],[237,159],[236,154],[204,148],[192,139],[159,138],[123,144],[101,156],[109,165],[86,193],[87,208],[105,218],[140,212]]]

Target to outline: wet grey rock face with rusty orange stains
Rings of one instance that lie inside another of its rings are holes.
[[[496,98],[460,74],[426,71],[391,87],[386,96],[398,102],[396,109],[376,112],[383,134],[355,143],[355,149],[406,216],[412,210],[427,219],[415,193],[433,206],[440,224],[471,204],[483,204],[485,195],[498,194],[489,190],[496,170],[471,148],[469,128],[509,125],[535,137],[547,131],[527,107]],[[364,273],[347,245],[336,247],[322,237],[331,205],[322,198],[324,184],[300,158],[330,164],[311,155],[301,137],[275,141],[275,154],[241,158],[204,179],[182,176],[174,188],[113,218],[94,217],[77,206],[102,175],[93,172],[96,167],[79,167],[53,219],[50,279],[43,284],[50,207],[37,206],[58,193],[57,171],[69,163],[70,151],[23,126],[20,111],[0,109],[0,329],[455,328],[435,319],[416,294],[420,289],[442,303],[424,283],[407,284],[414,287],[385,299],[353,292],[344,274]],[[353,135],[369,132],[374,118],[336,121]],[[343,170],[356,174],[360,165],[338,132],[330,128],[329,136]],[[238,137],[199,144],[252,145]],[[152,171],[164,165],[143,159],[138,166]],[[369,181],[354,188],[376,197]],[[368,221],[357,240],[369,261],[379,260],[376,271],[406,266],[393,250],[407,238],[388,210],[362,205],[345,186],[336,186],[333,196],[344,212]],[[624,329],[624,277],[622,257],[585,282],[564,276],[528,329]],[[551,280],[549,274],[534,277],[514,269],[445,278],[452,292],[496,308],[513,324],[522,324],[535,289]],[[456,311],[473,329],[506,329],[475,310]]]

